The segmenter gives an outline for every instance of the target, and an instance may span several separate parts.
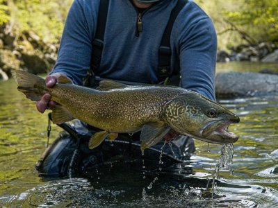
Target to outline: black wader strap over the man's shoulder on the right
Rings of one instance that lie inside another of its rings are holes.
[[[174,25],[174,21],[179,15],[181,9],[186,6],[187,0],[178,0],[176,6],[173,8],[167,26],[165,28],[161,46],[159,48],[159,56],[158,56],[158,71],[157,77],[158,82],[162,83],[167,78],[173,75],[173,71],[171,70],[171,47],[170,47],[170,37],[172,33],[172,27]]]

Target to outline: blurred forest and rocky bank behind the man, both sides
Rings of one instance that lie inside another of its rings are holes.
[[[45,73],[56,54],[73,0],[0,0],[0,70]],[[213,19],[218,50],[251,50],[258,60],[278,46],[278,1],[195,0]],[[263,54],[252,49],[264,47]],[[251,47],[251,48],[250,48]],[[252,55],[252,54],[251,54]],[[240,60],[240,59],[239,59]],[[0,71],[0,72],[1,72]]]

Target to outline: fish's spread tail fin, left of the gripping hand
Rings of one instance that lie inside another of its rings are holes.
[[[38,90],[39,86],[44,85],[44,79],[35,76],[27,71],[12,71],[13,78],[17,83],[17,89],[23,92],[31,101],[39,101],[41,94]]]

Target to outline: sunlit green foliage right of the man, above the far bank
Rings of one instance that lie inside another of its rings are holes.
[[[213,19],[218,49],[240,44],[278,44],[278,1],[195,0]]]

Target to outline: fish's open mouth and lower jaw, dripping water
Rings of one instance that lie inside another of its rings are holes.
[[[206,140],[215,144],[229,144],[238,141],[238,136],[234,132],[229,132],[229,125],[231,123],[238,123],[239,121],[211,121],[202,130],[201,134]]]

